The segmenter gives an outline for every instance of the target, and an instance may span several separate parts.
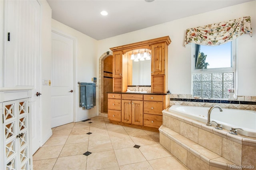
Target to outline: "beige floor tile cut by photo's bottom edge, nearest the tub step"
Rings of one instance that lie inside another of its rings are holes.
[[[154,170],[187,170],[174,157],[166,157],[148,161]]]

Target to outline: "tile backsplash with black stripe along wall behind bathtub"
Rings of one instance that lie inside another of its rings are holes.
[[[256,96],[238,96],[236,100],[228,99],[195,99],[191,94],[171,94],[170,106],[199,106],[211,107],[218,105],[228,109],[256,110]]]

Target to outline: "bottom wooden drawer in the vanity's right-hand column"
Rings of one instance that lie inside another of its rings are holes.
[[[144,126],[159,128],[162,122],[160,115],[144,114]]]

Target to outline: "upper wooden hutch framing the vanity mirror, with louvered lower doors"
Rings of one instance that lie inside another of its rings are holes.
[[[151,92],[166,93],[168,88],[166,80],[168,73],[168,45],[170,43],[170,37],[166,36],[110,48],[113,51],[113,92],[126,92],[128,60],[130,59],[127,52],[136,49],[151,49]]]

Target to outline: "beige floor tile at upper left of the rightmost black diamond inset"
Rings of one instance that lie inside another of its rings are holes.
[[[132,148],[135,145],[130,137],[112,138],[111,143],[113,149]]]

